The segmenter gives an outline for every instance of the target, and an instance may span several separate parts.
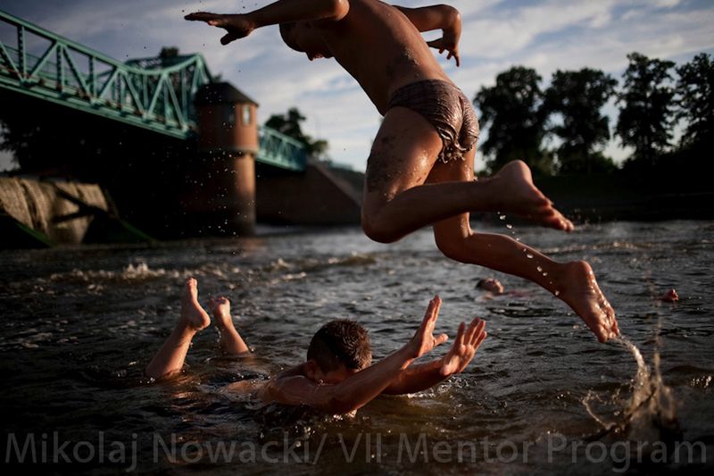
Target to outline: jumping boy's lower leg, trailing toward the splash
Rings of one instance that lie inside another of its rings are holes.
[[[473,171],[469,167],[438,163],[428,180],[469,180],[472,177]],[[519,276],[549,290],[565,301],[599,340],[605,341],[619,334],[612,306],[598,287],[588,263],[557,263],[508,236],[474,232],[469,225],[469,213],[437,222],[434,234],[436,245],[453,260]]]

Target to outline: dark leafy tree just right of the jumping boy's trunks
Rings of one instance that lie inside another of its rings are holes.
[[[474,98],[481,124],[488,129],[483,149],[491,172],[514,159],[523,160],[535,173],[552,172],[552,158],[541,149],[545,117],[540,80],[535,70],[514,66],[496,76],[494,87],[481,88]]]

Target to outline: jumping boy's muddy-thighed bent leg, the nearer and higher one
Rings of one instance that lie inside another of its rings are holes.
[[[518,213],[552,228],[572,229],[535,188],[524,163],[511,163],[489,180],[425,185],[442,146],[434,126],[419,113],[404,107],[386,113],[367,163],[362,228],[369,238],[395,241],[473,210]]]

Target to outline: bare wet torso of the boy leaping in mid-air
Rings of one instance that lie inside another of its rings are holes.
[[[350,0],[340,21],[313,22],[337,63],[367,93],[379,113],[398,88],[422,79],[450,79],[419,30],[407,17],[378,0]]]

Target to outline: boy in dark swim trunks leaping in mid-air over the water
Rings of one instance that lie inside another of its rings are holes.
[[[429,51],[446,51],[459,65],[461,18],[454,8],[280,0],[252,13],[186,18],[226,29],[223,45],[279,24],[287,46],[310,60],[334,57],[357,80],[384,115],[362,200],[362,229],[369,238],[394,242],[432,225],[444,255],[534,281],[570,305],[602,342],[619,334],[588,263],[557,263],[508,236],[471,230],[471,211],[513,213],[557,230],[573,230],[573,224],[535,188],[523,162],[475,181],[476,115]],[[442,38],[426,43],[419,32],[434,29],[443,31]]]

